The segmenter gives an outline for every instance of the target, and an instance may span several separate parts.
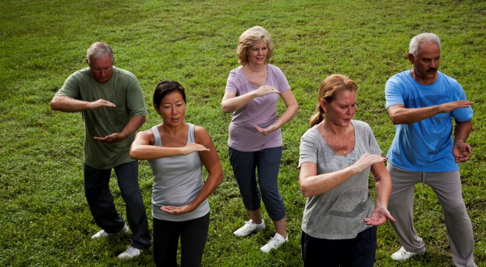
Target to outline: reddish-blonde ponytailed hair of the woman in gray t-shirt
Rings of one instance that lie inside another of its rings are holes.
[[[337,92],[343,90],[356,91],[358,90],[358,85],[353,80],[341,74],[332,74],[322,81],[317,92],[316,113],[311,116],[309,128],[312,128],[312,126],[320,123],[324,119],[324,110],[320,103],[321,99],[329,103],[334,100]]]

